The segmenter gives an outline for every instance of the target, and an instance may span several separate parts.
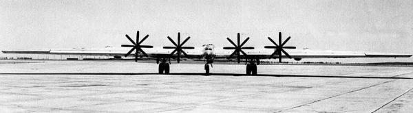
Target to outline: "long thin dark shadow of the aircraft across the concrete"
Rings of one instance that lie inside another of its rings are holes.
[[[160,75],[158,73],[0,73],[0,75]],[[262,77],[326,77],[326,78],[354,78],[354,79],[413,79],[411,77],[374,77],[374,76],[339,76],[339,75],[275,75],[258,74],[245,75],[236,73],[169,73],[167,75],[202,75],[202,76],[262,76]]]

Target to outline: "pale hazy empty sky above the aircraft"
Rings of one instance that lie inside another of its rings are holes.
[[[282,32],[299,49],[413,53],[412,10],[410,0],[0,0],[0,50],[120,47],[140,30],[159,47],[177,32],[187,46],[230,46],[240,32],[262,48]]]

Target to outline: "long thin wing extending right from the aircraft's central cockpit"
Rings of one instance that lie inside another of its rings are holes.
[[[321,51],[310,49],[291,49],[286,50],[291,58],[410,58],[412,54],[403,53],[374,53],[361,51]],[[229,58],[233,51],[217,51],[215,58]],[[266,59],[270,58],[273,51],[254,51],[245,50],[248,57]],[[246,58],[240,53],[241,58]],[[231,56],[231,59],[236,59],[237,55]],[[273,58],[278,58],[278,55],[273,55]],[[284,53],[282,58],[288,58]]]

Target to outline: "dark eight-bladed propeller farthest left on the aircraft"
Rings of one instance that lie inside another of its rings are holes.
[[[129,39],[129,41],[132,42],[132,44],[134,45],[121,45],[121,47],[132,47],[131,50],[129,50],[129,52],[126,53],[125,57],[127,57],[128,55],[130,55],[132,53],[132,51],[135,51],[135,62],[138,62],[138,53],[141,52],[143,55],[148,56],[147,53],[145,53],[145,51],[142,50],[142,48],[153,48],[153,46],[151,45],[140,45],[142,44],[143,41],[145,41],[149,35],[145,36],[142,40],[139,41],[139,31],[136,32],[136,42],[134,42],[134,40],[131,39],[131,37],[129,37],[127,34],[125,35],[127,39]]]

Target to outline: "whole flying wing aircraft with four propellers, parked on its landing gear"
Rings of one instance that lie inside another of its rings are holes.
[[[162,47],[162,49],[153,49],[151,45],[142,45],[149,35],[146,35],[142,40],[139,40],[139,31],[136,34],[136,42],[132,40],[127,34],[126,38],[133,45],[121,45],[121,47],[131,47],[129,51],[123,49],[69,49],[69,50],[47,50],[47,51],[2,51],[3,53],[28,53],[28,54],[56,54],[56,55],[108,55],[114,58],[126,58],[133,55],[135,62],[138,57],[149,58],[156,60],[158,66],[158,73],[168,74],[169,64],[172,60],[177,60],[180,63],[182,55],[189,59],[204,60],[206,64],[204,70],[209,74],[209,66],[212,67],[214,60],[237,60],[240,63],[241,59],[246,61],[246,75],[257,75],[257,64],[260,64],[260,59],[278,59],[282,62],[282,58],[293,58],[294,60],[301,60],[303,58],[410,58],[411,54],[396,54],[396,53],[366,53],[354,51],[315,51],[309,49],[296,49],[296,47],[285,46],[290,37],[282,42],[282,34],[279,32],[278,43],[272,38],[268,40],[273,43],[271,46],[264,46],[264,49],[254,50],[255,47],[244,47],[248,42],[249,37],[240,42],[240,33],[237,34],[237,43],[233,42],[231,38],[226,40],[233,45],[233,47],[216,48],[213,44],[202,45],[202,47],[184,47],[183,45],[190,39],[187,37],[183,42],[180,41],[180,32],[175,42],[171,37],[167,36],[173,47]],[[144,49],[146,51],[144,51]],[[231,50],[233,49],[233,51]],[[287,53],[284,49],[290,49]],[[134,52],[135,51],[135,52]],[[132,52],[134,52],[132,54]],[[284,53],[284,55],[283,55]],[[169,61],[169,62],[168,62]]]

